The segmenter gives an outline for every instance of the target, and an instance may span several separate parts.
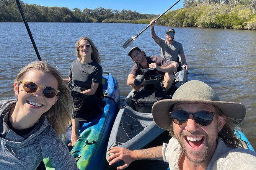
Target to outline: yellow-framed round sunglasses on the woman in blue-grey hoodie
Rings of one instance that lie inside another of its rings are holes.
[[[54,98],[56,95],[59,94],[59,90],[56,90],[55,88],[53,87],[45,87],[45,86],[41,86],[41,85],[38,85],[37,83],[34,83],[34,82],[30,82],[30,81],[23,81],[23,80],[20,80],[20,83],[23,84],[23,90],[28,93],[28,94],[35,94],[38,90],[39,90],[39,87],[42,87],[43,88],[43,95],[46,97],[46,98]],[[19,85],[20,85],[19,83]]]

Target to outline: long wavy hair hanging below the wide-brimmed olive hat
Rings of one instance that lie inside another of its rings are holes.
[[[225,116],[222,111],[214,106],[217,110],[218,115],[220,116]],[[173,106],[171,106],[170,111],[174,110],[174,104]],[[229,147],[231,148],[244,148],[243,147],[243,143],[241,142],[240,139],[238,139],[235,135],[235,129],[236,129],[236,125],[234,122],[237,122],[237,120],[230,118],[230,117],[226,117],[226,123],[224,124],[224,126],[222,127],[222,130],[220,130],[220,132],[218,132],[218,137],[221,138],[221,140]],[[174,132],[173,132],[173,121],[170,124],[170,136],[174,136]]]

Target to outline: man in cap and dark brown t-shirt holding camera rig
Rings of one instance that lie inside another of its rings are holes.
[[[127,85],[134,88],[135,91],[139,91],[142,87],[142,82],[135,80],[135,78],[143,75],[143,69],[151,68],[160,71],[160,74],[164,75],[163,87],[165,91],[168,91],[171,88],[174,80],[173,73],[177,71],[177,67],[174,64],[171,64],[160,56],[152,55],[147,57],[145,51],[140,50],[139,47],[131,48],[128,55],[132,58],[135,64],[128,75]]]

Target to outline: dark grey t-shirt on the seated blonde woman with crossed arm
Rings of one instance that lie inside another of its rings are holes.
[[[102,83],[102,67],[95,61],[83,64],[81,61],[73,61],[68,77],[72,78],[71,90],[82,92],[91,88],[91,82]]]

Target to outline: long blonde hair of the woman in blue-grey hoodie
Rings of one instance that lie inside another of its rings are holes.
[[[71,124],[71,114],[73,107],[72,96],[67,85],[62,80],[62,76],[57,68],[51,66],[45,61],[35,61],[21,69],[20,73],[16,77],[16,82],[22,80],[24,75],[31,70],[39,70],[45,73],[52,74],[58,82],[58,90],[60,90],[57,102],[42,115],[47,117],[47,120],[51,123],[52,128],[60,136],[65,137],[67,127]]]

